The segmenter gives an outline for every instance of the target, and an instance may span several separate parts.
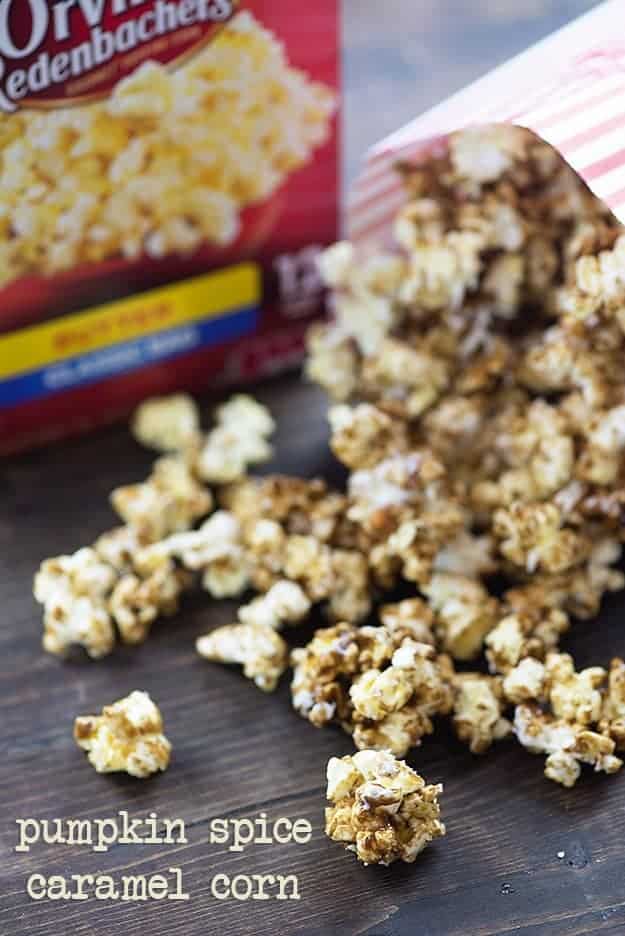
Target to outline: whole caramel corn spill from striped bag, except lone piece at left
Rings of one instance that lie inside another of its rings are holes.
[[[345,492],[248,476],[274,424],[247,396],[208,434],[188,397],[148,401],[133,430],[164,454],[113,492],[125,526],[35,580],[44,647],[93,657],[195,582],[256,592],[197,651],[264,691],[291,665],[295,710],[358,749],[330,761],[326,831],[382,864],[444,834],[440,786],[397,760],[441,718],[474,754],[514,736],[566,787],[625,750],[625,663],[560,652],[571,617],[625,586],[625,234],[523,129],[462,131],[401,171],[396,249],[321,261],[335,318],[307,371]],[[328,626],[290,650],[313,606]]]

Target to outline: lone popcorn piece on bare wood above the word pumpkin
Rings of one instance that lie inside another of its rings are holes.
[[[147,692],[131,692],[101,715],[84,715],[74,722],[74,739],[89,754],[98,773],[125,771],[149,777],[166,770],[171,744],[163,734],[163,719]]]

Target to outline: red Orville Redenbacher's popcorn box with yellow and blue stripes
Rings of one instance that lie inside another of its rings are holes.
[[[4,0],[0,452],[299,359],[337,236],[337,6]]]

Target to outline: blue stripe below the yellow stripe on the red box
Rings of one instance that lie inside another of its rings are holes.
[[[78,355],[63,363],[2,380],[0,409],[28,403],[63,390],[86,387],[156,361],[170,360],[190,351],[233,341],[254,331],[257,323],[258,307],[250,306],[221,318],[181,325],[133,341],[123,341],[89,354]]]

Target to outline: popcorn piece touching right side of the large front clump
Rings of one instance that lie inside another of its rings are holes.
[[[454,678],[456,734],[469,745],[472,754],[483,754],[494,741],[511,731],[503,717],[505,700],[501,680],[481,673],[459,673]]]

